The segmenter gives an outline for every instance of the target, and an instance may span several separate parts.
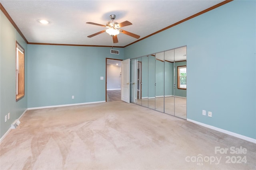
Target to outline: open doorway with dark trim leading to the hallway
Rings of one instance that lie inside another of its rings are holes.
[[[121,61],[106,58],[106,102],[121,100]]]

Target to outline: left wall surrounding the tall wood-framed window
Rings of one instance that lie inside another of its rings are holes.
[[[0,12],[0,137],[27,108],[27,44]],[[25,49],[25,96],[16,102],[16,41]],[[10,119],[4,117],[10,113]]]

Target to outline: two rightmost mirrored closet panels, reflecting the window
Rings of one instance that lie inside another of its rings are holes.
[[[164,113],[186,119],[186,46],[164,52]]]

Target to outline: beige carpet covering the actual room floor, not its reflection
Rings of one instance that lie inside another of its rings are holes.
[[[29,110],[20,121],[0,145],[1,170],[256,169],[256,144],[122,101]]]

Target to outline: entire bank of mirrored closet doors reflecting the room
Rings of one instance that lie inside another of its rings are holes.
[[[131,102],[186,119],[186,53],[184,46],[132,59]]]

